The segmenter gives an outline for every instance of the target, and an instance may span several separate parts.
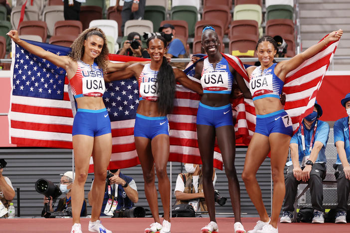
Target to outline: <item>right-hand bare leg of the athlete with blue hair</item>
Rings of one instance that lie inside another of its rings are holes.
[[[232,209],[235,222],[241,222],[240,189],[237,178],[234,160],[236,158],[236,138],[232,125],[225,125],[215,129],[217,142],[225,166],[225,173],[228,180]]]

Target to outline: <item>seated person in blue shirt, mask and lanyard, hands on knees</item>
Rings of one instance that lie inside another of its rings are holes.
[[[322,180],[326,177],[325,150],[330,126],[327,122],[319,120],[320,116],[322,108],[315,103],[314,111],[303,119],[291,139],[291,160],[287,162],[286,196],[280,223],[292,222],[297,188],[302,181],[310,185],[311,204],[314,209],[312,223],[325,222]]]

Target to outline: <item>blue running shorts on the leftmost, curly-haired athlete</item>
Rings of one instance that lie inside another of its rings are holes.
[[[92,137],[111,133],[111,121],[106,108],[100,110],[78,109],[74,116],[72,135]]]

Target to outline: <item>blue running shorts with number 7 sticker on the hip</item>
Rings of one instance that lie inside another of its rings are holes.
[[[278,132],[293,135],[292,119],[286,111],[279,110],[274,113],[256,116],[255,132],[269,136],[270,133]]]

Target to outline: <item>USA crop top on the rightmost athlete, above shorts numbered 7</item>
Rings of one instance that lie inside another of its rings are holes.
[[[268,69],[261,72],[261,66],[255,68],[249,77],[249,89],[253,101],[265,97],[274,97],[280,99],[284,82],[275,75],[274,63]]]

